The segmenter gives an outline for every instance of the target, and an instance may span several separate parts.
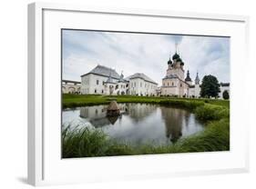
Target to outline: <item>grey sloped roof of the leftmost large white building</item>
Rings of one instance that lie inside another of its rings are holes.
[[[109,67],[103,65],[97,65],[94,69],[92,69],[88,74],[95,74],[95,75],[102,75],[102,76],[109,76],[111,75],[112,78],[119,79],[120,75],[116,72],[116,70],[111,69]],[[84,75],[81,75],[84,76]]]

